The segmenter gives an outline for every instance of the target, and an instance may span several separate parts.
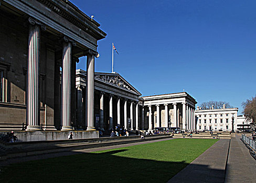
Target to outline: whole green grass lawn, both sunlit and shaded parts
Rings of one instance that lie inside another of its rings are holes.
[[[13,164],[0,182],[167,182],[215,139],[174,139]]]

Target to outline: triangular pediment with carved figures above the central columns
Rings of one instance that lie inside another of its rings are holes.
[[[94,73],[94,78],[104,83],[108,83],[116,87],[119,87],[121,89],[132,91],[133,93],[136,93],[138,96],[141,96],[141,93],[138,90],[136,90],[118,73]]]

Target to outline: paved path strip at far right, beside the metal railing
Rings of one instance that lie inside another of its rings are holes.
[[[241,134],[231,138],[225,182],[256,182],[256,161],[240,140]]]

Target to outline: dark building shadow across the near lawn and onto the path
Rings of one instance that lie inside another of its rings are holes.
[[[1,182],[167,182],[188,165],[185,162],[120,157],[125,151],[129,150],[83,153],[14,164],[2,173]],[[211,175],[205,174],[207,177],[223,174],[221,178],[225,178],[224,171],[208,171],[208,166],[195,165],[193,169],[210,172]]]

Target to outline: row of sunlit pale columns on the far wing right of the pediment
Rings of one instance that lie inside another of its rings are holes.
[[[174,113],[174,121],[173,123],[176,125],[176,127],[179,127],[178,120],[177,120],[177,103],[172,103]],[[169,117],[169,112],[168,112],[168,104],[164,104],[165,106],[165,125],[167,127],[168,125],[168,117]],[[188,105],[186,102],[182,102],[182,124],[183,124],[183,130],[195,130],[196,125],[195,125],[195,109]],[[153,125],[152,125],[152,106],[148,106],[148,129],[153,130]],[[144,115],[143,115],[144,116]],[[143,120],[144,121],[144,120]],[[144,125],[144,124],[142,124]],[[159,105],[156,105],[156,125],[157,127],[160,127],[160,111],[159,111]]]

